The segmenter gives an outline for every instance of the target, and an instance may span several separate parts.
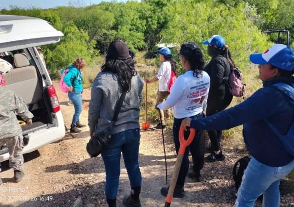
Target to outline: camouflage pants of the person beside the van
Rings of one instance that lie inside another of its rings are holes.
[[[9,167],[13,170],[23,171],[23,156],[22,149],[23,137],[21,134],[11,137],[0,139],[0,146],[6,144],[9,152]]]

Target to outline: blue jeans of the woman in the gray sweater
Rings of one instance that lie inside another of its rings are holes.
[[[130,186],[132,188],[141,186],[142,176],[138,163],[139,144],[140,129],[131,129],[112,135],[109,148],[101,153],[106,173],[106,199],[116,199],[121,153],[128,171]]]

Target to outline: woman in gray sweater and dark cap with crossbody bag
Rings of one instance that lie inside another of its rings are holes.
[[[116,206],[120,175],[120,157],[124,157],[128,171],[131,194],[123,200],[124,206],[140,207],[141,172],[138,164],[140,125],[139,104],[144,82],[135,70],[134,60],[122,40],[110,43],[105,63],[96,76],[89,105],[90,136],[102,132],[110,124],[116,105],[123,91],[127,91],[109,147],[101,155],[105,165],[105,194],[110,207]]]

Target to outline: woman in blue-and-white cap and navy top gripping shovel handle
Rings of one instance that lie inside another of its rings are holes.
[[[294,51],[276,44],[251,54],[259,64],[263,87],[232,108],[207,118],[186,118],[182,125],[196,130],[222,130],[243,124],[251,154],[238,190],[236,207],[253,207],[263,194],[263,207],[278,207],[280,179],[294,169]]]

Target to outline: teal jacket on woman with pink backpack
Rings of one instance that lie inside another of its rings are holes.
[[[83,91],[83,77],[80,70],[75,68],[74,65],[69,65],[67,68],[69,71],[63,78],[64,83],[69,87],[73,86],[74,91]],[[60,73],[62,74],[64,70],[62,69]]]

